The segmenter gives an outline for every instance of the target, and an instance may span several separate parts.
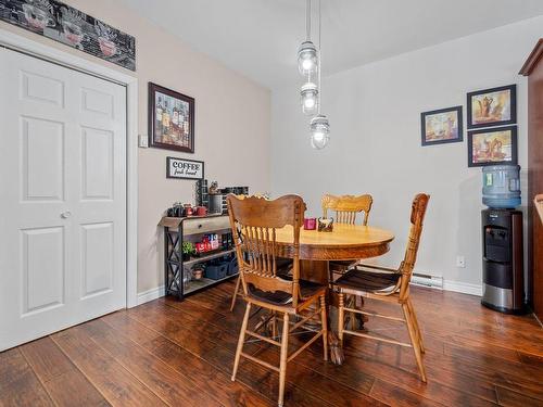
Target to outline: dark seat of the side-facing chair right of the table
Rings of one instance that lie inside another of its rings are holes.
[[[396,287],[401,277],[399,272],[370,271],[357,267],[341,276],[334,284],[348,290],[375,292]]]

